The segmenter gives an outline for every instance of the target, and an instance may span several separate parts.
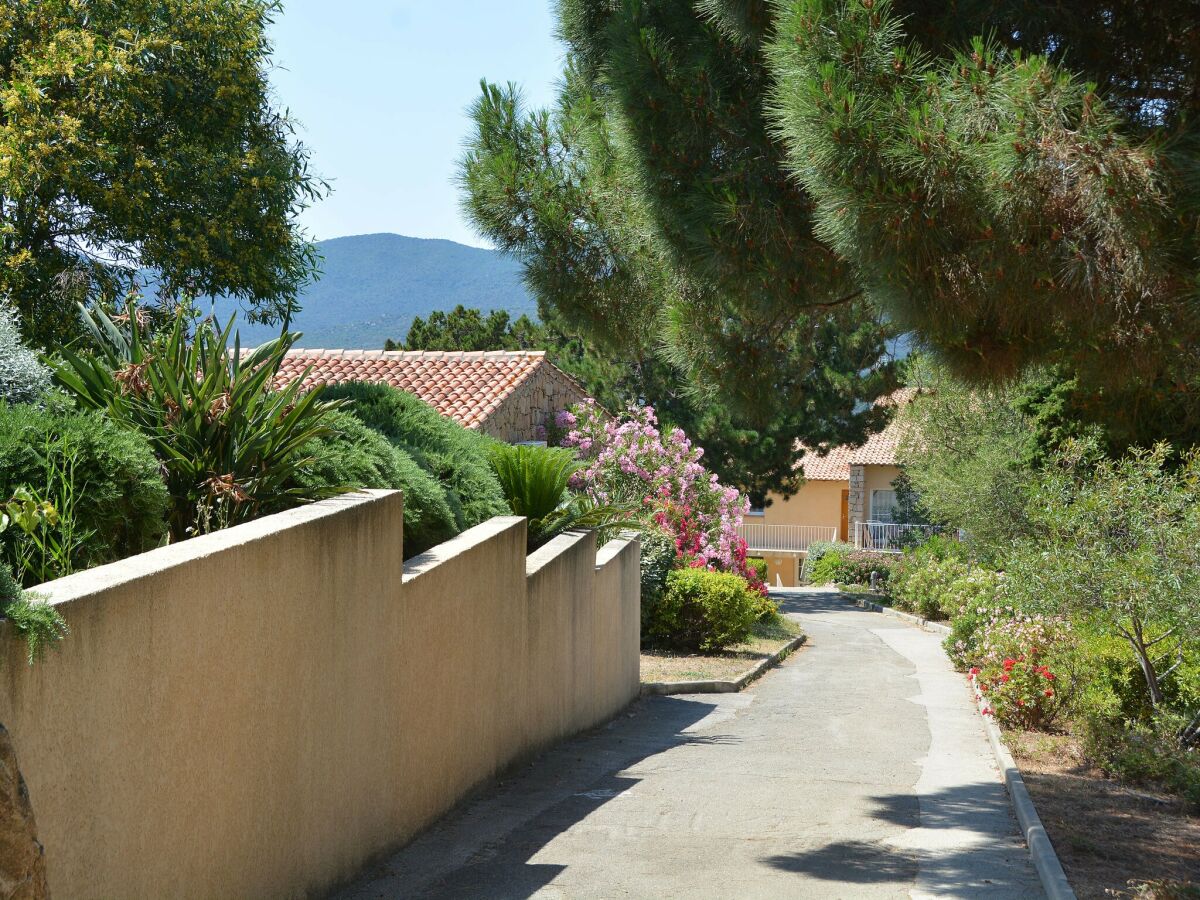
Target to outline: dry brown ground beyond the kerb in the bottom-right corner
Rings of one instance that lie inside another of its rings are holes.
[[[1145,893],[1132,884],[1200,886],[1200,815],[1165,794],[1127,788],[1091,766],[1070,734],[1006,731],[1004,740],[1080,900]]]

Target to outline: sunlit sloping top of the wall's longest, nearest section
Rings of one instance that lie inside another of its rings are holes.
[[[301,528],[310,522],[336,516],[356,506],[394,503],[403,504],[400,491],[371,490],[344,493],[55,578],[30,588],[30,593],[52,606],[68,604],[228,550],[268,540],[281,532]]]

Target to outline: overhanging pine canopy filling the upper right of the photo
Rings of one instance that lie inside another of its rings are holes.
[[[806,402],[815,431],[814,334],[882,371],[874,325],[972,384],[1050,366],[1117,446],[1200,438],[1194,0],[558,13],[558,106],[486,85],[463,182],[572,320],[665,343],[736,415]],[[842,364],[822,376],[870,400]]]

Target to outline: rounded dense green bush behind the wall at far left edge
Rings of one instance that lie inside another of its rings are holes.
[[[56,511],[58,522],[36,526],[40,539],[67,548],[65,559],[38,552],[41,568],[23,572],[30,584],[151,550],[167,532],[169,498],[149,442],[98,412],[0,403],[0,502],[22,490]],[[16,564],[38,550],[20,546],[22,530],[0,534],[0,558]]]

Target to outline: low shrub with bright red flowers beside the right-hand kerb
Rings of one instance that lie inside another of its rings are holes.
[[[986,702],[985,715],[1004,725],[1043,728],[1062,708],[1062,664],[1070,624],[1049,616],[994,618],[984,629],[979,661],[971,668]]]

